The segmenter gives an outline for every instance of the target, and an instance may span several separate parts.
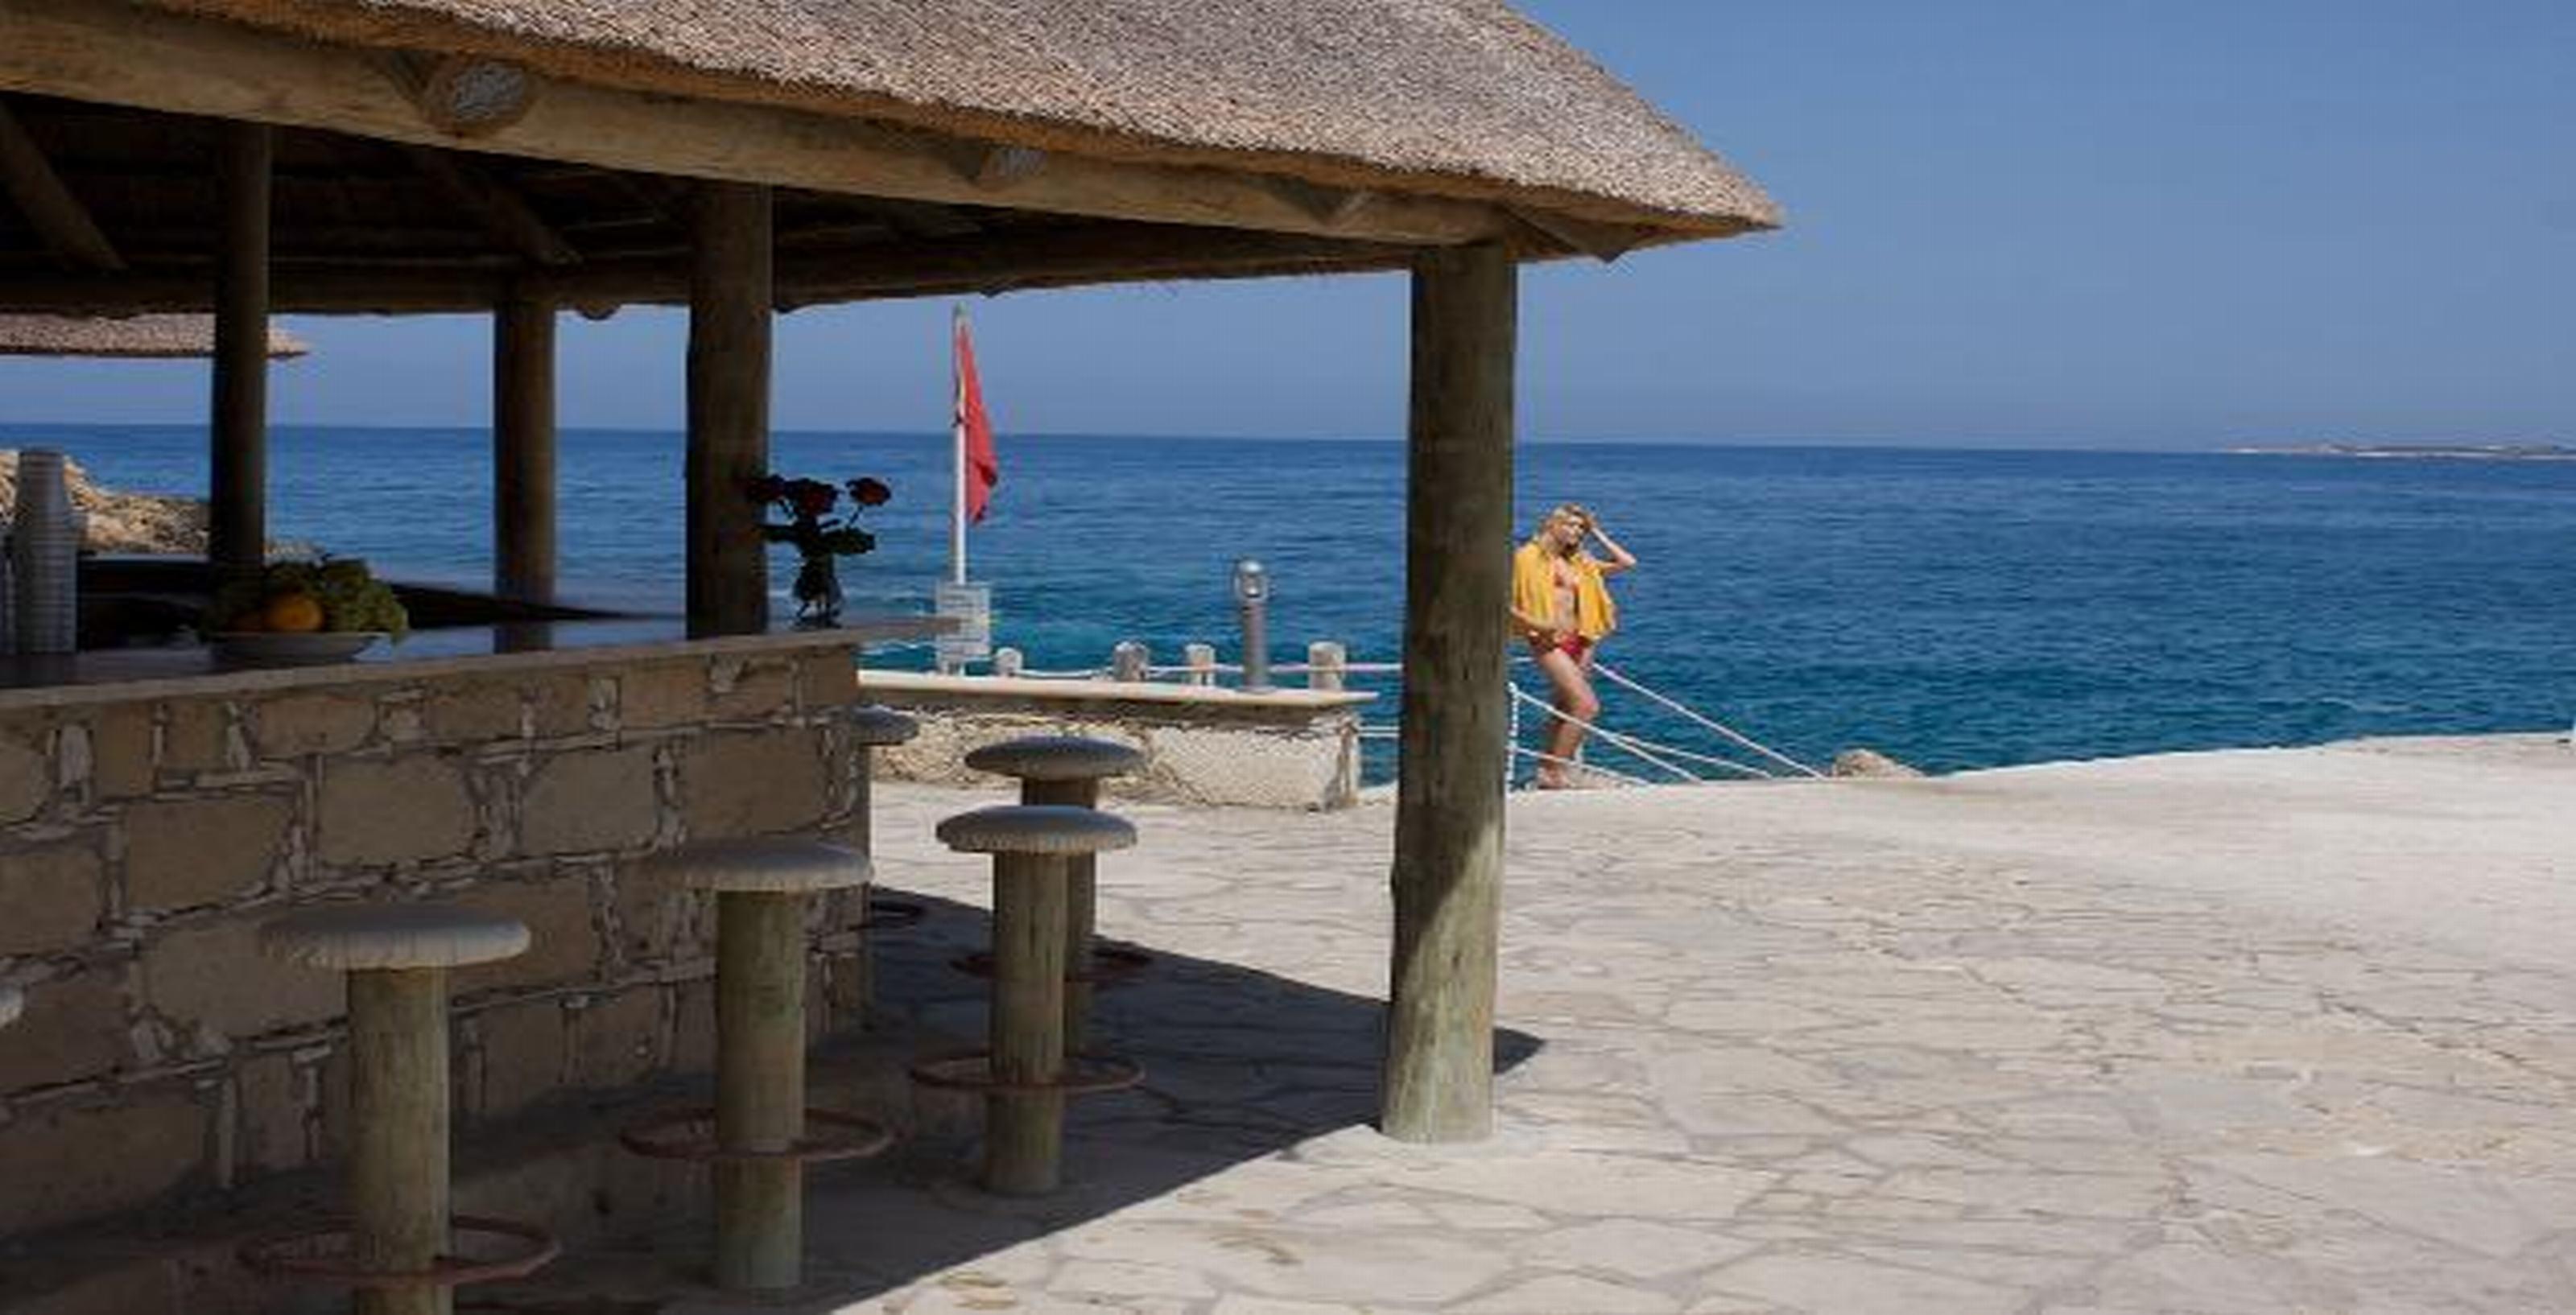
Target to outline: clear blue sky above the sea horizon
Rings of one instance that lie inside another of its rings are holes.
[[[2576,443],[2576,3],[1528,0],[1785,206],[1558,265],[1530,437]],[[935,430],[945,304],[781,322],[781,427]],[[1005,430],[1394,435],[1396,278],[979,301]],[[482,425],[479,319],[304,319],[281,422]],[[677,427],[680,317],[567,319],[567,425]],[[201,365],[0,363],[0,422]]]

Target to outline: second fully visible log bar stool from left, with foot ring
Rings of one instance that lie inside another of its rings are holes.
[[[806,898],[866,885],[868,860],[811,839],[729,839],[647,865],[716,893],[716,1107],[665,1114],[618,1140],[639,1155],[714,1163],[716,1287],[796,1287],[804,1166],[860,1161],[894,1140],[876,1119],[806,1109]]]

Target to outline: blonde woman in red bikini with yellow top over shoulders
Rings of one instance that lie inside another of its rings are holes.
[[[1584,551],[1584,543],[1600,543],[1602,556]],[[1571,785],[1566,767],[1584,746],[1584,726],[1602,710],[1602,700],[1592,692],[1592,654],[1610,630],[1618,630],[1618,605],[1610,602],[1602,579],[1631,566],[1636,553],[1620,548],[1589,510],[1571,502],[1548,512],[1538,533],[1512,553],[1512,625],[1530,643],[1538,669],[1548,674],[1556,705],[1548,757],[1533,777],[1540,790]]]

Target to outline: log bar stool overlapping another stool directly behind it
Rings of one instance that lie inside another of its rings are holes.
[[[981,1091],[984,1189],[1038,1197],[1064,1179],[1064,1099],[1144,1081],[1128,1060],[1064,1047],[1066,860],[1126,849],[1136,829],[1092,808],[1007,805],[958,813],[938,836],[992,854],[992,1024],[989,1045],[922,1058],[912,1078]]]

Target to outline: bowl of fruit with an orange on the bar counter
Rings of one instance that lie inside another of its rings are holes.
[[[410,628],[402,600],[358,558],[270,561],[216,589],[206,610],[216,656],[242,667],[348,661]]]

